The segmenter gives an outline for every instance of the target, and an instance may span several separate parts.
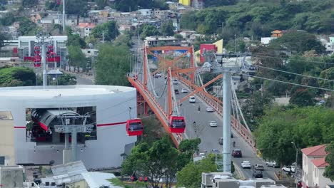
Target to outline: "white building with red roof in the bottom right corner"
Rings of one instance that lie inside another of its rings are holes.
[[[303,173],[302,183],[305,188],[325,188],[334,185],[330,179],[323,177],[325,167],[326,145],[316,145],[301,150],[303,152]]]

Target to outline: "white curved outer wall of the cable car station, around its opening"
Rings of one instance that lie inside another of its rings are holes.
[[[136,117],[136,89],[119,86],[106,85],[76,85],[59,86],[58,88],[85,88],[82,92],[86,95],[61,95],[59,98],[48,97],[40,93],[52,91],[55,87],[48,87],[48,90],[36,90],[35,96],[27,96],[22,88],[35,87],[15,87],[0,88],[0,111],[11,111],[14,117],[14,143],[15,143],[15,163],[16,164],[49,164],[54,160],[54,164],[62,164],[64,145],[36,145],[36,142],[26,142],[26,108],[72,108],[96,106],[97,140],[87,140],[85,145],[79,145],[78,160],[82,160],[87,169],[120,167],[123,162],[121,154],[125,152],[125,146],[136,142],[136,137],[126,135],[126,125],[99,126],[114,122],[124,122],[128,120],[128,108],[131,107],[131,117]],[[119,90],[118,93],[110,94],[87,94],[89,88],[95,90]],[[15,93],[4,94],[4,93]],[[59,95],[54,90],[54,96]],[[74,89],[74,93],[78,93]],[[2,130],[0,130],[3,132]],[[10,133],[9,133],[10,134]]]

